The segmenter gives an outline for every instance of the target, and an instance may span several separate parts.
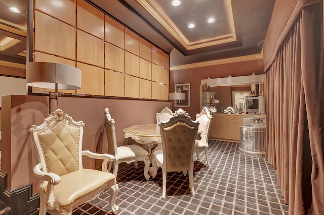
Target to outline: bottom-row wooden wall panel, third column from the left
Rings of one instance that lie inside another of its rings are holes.
[[[125,74],[105,70],[105,95],[125,97]]]

